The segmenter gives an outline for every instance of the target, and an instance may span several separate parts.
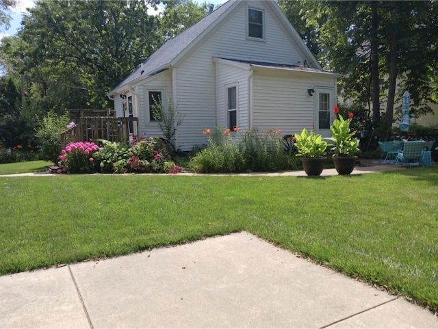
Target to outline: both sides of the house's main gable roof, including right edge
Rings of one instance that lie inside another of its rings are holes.
[[[122,88],[124,85],[128,85],[129,83],[140,79],[141,77],[150,77],[151,75],[155,75],[157,73],[170,68],[172,64],[185,53],[194,47],[194,45],[207,34],[211,29],[213,29],[222,19],[227,16],[228,12],[231,12],[233,8],[235,8],[241,1],[239,0],[229,0],[219,8],[209,13],[207,16],[198,21],[198,23],[188,27],[181,34],[168,40],[162,47],[160,47],[155,53],[151,55],[146,61],[144,61],[136,70],[131,73],[125,80],[119,83],[114,90],[112,90],[108,95],[116,94],[116,90]],[[304,41],[300,38],[294,27],[292,27],[291,23],[287,20],[279,6],[275,3],[275,1],[270,0],[266,1],[270,8],[274,10],[274,13],[279,18],[281,23],[286,27],[289,31],[289,34],[292,36],[293,40],[296,42],[296,46],[302,53],[304,53],[305,57],[311,59],[311,66],[315,66],[315,70],[322,71],[320,64],[318,64],[317,60],[311,53],[311,51],[307,48]]]

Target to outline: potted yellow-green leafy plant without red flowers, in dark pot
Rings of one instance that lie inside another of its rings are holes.
[[[326,148],[327,142],[322,135],[307,129],[302,129],[301,133],[294,135],[294,145],[298,150],[298,157],[301,157],[302,167],[309,176],[319,176],[324,169],[324,163],[327,159]]]

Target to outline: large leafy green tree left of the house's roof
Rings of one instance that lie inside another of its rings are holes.
[[[75,107],[107,107],[107,92],[162,43],[158,18],[148,14],[154,4],[37,1],[18,34],[28,45],[25,74],[41,81],[44,96],[79,94],[79,101],[70,99]],[[58,111],[64,111],[60,106],[73,105],[59,101],[54,99],[51,107],[57,103]]]

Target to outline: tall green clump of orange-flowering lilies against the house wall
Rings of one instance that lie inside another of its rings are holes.
[[[208,135],[208,146],[190,160],[190,168],[196,172],[245,172],[296,169],[294,155],[283,146],[281,131],[259,133],[251,130],[240,133],[236,128],[223,133],[220,127]]]

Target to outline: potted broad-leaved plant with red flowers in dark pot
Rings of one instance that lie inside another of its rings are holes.
[[[351,131],[350,122],[353,118],[353,114],[348,115],[348,119],[344,120],[342,115],[339,114],[339,109],[335,105],[335,114],[338,118],[333,121],[333,125],[330,127],[332,137],[327,140],[333,142],[333,163],[335,163],[335,169],[338,174],[351,174],[355,168],[357,161],[357,154],[359,152],[359,140],[353,137],[356,131]]]

